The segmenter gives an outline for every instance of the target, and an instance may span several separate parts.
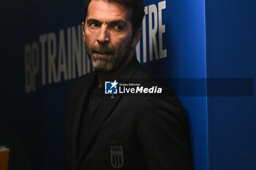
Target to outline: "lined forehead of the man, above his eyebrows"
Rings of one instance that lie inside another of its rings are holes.
[[[102,21],[129,20],[129,10],[115,1],[91,0],[86,19]]]

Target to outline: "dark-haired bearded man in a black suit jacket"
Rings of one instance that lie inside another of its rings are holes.
[[[151,82],[134,57],[142,0],[86,0],[83,40],[94,72],[67,97],[64,169],[191,169],[187,124],[178,98],[105,95],[105,81]]]

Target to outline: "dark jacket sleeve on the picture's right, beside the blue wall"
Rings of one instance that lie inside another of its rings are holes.
[[[144,99],[138,113],[138,139],[148,169],[189,170],[192,161],[187,123],[178,98],[169,92]]]

